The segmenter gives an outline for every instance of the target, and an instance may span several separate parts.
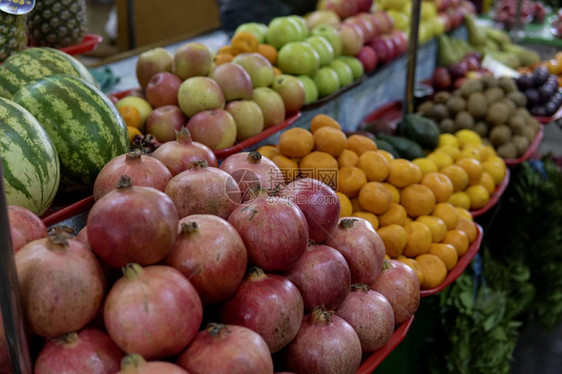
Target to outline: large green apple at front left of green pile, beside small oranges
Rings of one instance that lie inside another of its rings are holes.
[[[277,66],[284,74],[313,77],[320,65],[320,56],[305,42],[285,44],[277,55]]]

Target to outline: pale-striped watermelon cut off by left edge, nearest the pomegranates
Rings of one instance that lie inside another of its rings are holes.
[[[59,187],[59,157],[37,119],[22,106],[1,97],[0,159],[8,205],[43,214]]]

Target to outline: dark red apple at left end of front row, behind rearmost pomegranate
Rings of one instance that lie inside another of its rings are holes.
[[[160,142],[176,139],[176,131],[180,131],[187,123],[187,118],[177,105],[164,105],[150,113],[146,119],[145,131],[152,134]]]

